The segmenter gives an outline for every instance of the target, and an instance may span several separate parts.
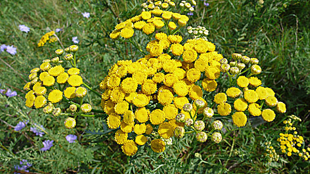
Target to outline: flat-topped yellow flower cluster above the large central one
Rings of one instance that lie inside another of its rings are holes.
[[[186,15],[161,9],[143,11],[141,14],[117,24],[110,33],[110,38],[117,39],[121,36],[122,38],[129,39],[134,35],[135,30],[140,30],[150,35],[160,30],[165,24],[170,30],[175,30],[186,25],[188,20],[189,18]]]

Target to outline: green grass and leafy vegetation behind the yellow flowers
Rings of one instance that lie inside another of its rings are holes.
[[[208,0],[209,6],[197,0],[190,25],[205,26],[209,40],[224,57],[239,52],[260,60],[264,85],[272,87],[279,100],[287,104],[286,115],[295,114],[303,121],[299,133],[309,144],[310,130],[310,2],[309,0]],[[98,88],[109,67],[120,59],[139,59],[141,55],[128,43],[120,45],[108,34],[119,21],[141,11],[139,0],[1,0],[0,44],[14,45],[16,55],[0,53],[0,88],[17,91],[17,96],[0,95],[0,173],[13,173],[14,165],[26,159],[32,164],[29,173],[309,173],[309,162],[297,156],[282,156],[279,162],[266,163],[263,158],[265,141],[276,144],[281,122],[257,127],[247,124],[225,134],[218,145],[198,144],[191,137],[179,141],[163,154],[149,149],[134,158],[123,155],[113,141],[103,119],[80,118],[73,130],[65,129],[64,117],[45,116],[40,110],[24,106],[28,72],[43,59],[55,56],[58,42],[37,47],[41,36],[50,30],[57,33],[66,47],[80,40],[78,66],[83,79]],[[82,12],[90,12],[85,18]],[[30,27],[24,33],[19,24]],[[88,102],[99,108],[100,100],[88,95]],[[29,120],[19,132],[14,126]],[[42,137],[30,132],[34,123],[43,125]],[[225,124],[225,129],[233,127]],[[68,134],[78,136],[78,143],[69,144]],[[57,140],[51,150],[41,152],[42,141]],[[176,140],[175,140],[176,141]],[[147,153],[144,153],[147,151]],[[195,157],[199,153],[201,158]],[[281,154],[281,152],[277,152]]]

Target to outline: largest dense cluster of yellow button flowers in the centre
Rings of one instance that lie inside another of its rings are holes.
[[[146,46],[148,55],[136,62],[118,61],[100,83],[104,90],[101,106],[109,115],[107,125],[118,129],[115,141],[128,156],[136,153],[138,145],[147,143],[153,129],[158,127],[160,137],[169,139],[176,127],[184,127],[175,120],[179,112],[190,118],[182,110],[184,104],[196,99],[206,103],[202,88],[195,83],[202,81],[205,90],[214,91],[220,76],[219,61],[223,57],[211,42],[191,39],[181,45],[181,36],[161,32],[155,38]],[[183,61],[173,59],[179,56]],[[131,132],[134,140],[128,139]],[[161,139],[152,140],[150,145],[154,152],[165,150]]]

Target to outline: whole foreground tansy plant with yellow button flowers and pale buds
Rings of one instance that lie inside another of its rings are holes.
[[[66,48],[64,51],[69,54],[64,56],[63,50],[56,50],[59,57],[44,60],[30,71],[30,82],[24,87],[29,90],[26,106],[67,116],[67,128],[75,126],[78,116],[103,116],[127,156],[135,155],[139,146],[161,153],[173,136],[189,134],[202,143],[211,137],[220,143],[222,117],[232,118],[236,126],[242,127],[250,116],[262,115],[270,122],[275,119],[274,110],[286,112],[275,92],[262,87],[261,80],[254,77],[262,71],[258,59],[233,54],[234,61],[228,63],[206,39],[184,39],[177,34],[188,21],[186,15],[154,8],[117,24],[110,38],[131,43],[144,57],[135,62],[116,62],[99,85],[101,95],[83,83],[79,75],[78,47]],[[197,27],[197,31],[201,29],[205,28]],[[148,38],[143,47],[135,39],[141,34]],[[65,70],[63,60],[70,62],[72,68]],[[221,75],[229,78],[229,88],[218,87]],[[83,103],[85,87],[101,96],[103,111]],[[207,103],[210,100],[213,102]],[[70,104],[69,108],[60,108],[60,102]]]

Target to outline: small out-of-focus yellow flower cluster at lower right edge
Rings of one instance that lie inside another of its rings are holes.
[[[280,133],[280,138],[277,141],[280,143],[281,152],[285,153],[287,156],[292,156],[294,153],[304,160],[308,161],[310,158],[310,148],[306,150],[305,140],[303,136],[298,135],[296,127],[293,124],[297,121],[302,121],[299,117],[295,115],[290,115],[287,120],[283,121],[285,124],[285,133]],[[292,131],[292,133],[290,133]],[[293,132],[294,131],[294,132]],[[302,147],[305,147],[302,149]],[[300,150],[299,150],[300,149]]]

